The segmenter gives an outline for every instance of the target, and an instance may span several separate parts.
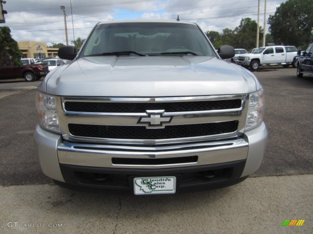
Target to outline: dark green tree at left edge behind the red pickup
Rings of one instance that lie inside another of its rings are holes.
[[[10,33],[9,27],[0,27],[0,65],[12,61],[16,66],[20,66],[23,53]]]

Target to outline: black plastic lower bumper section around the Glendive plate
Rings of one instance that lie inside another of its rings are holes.
[[[128,190],[133,193],[133,178],[175,176],[177,192],[215,189],[239,183],[245,160],[206,166],[162,169],[97,168],[60,164],[66,183],[71,189]]]

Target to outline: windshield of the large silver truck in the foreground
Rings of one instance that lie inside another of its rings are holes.
[[[82,53],[83,56],[215,56],[196,25],[159,22],[101,24],[90,35]]]

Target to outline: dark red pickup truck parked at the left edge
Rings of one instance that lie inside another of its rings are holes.
[[[8,61],[0,65],[0,79],[22,77],[29,82],[39,80],[41,76],[47,75],[48,72],[48,66],[43,64],[14,66],[13,62]]]

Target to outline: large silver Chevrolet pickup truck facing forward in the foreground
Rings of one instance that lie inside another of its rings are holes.
[[[261,165],[264,91],[223,61],[197,24],[98,23],[72,60],[38,87],[36,151],[42,171],[69,188],[133,194],[217,188]]]

